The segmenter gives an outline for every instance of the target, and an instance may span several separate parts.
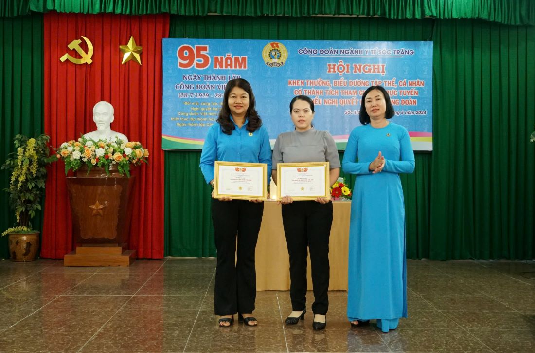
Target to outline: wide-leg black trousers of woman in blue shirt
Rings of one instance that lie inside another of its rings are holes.
[[[216,315],[230,315],[236,311],[250,313],[255,309],[255,248],[263,213],[263,202],[212,199],[217,250]],[[235,260],[236,251],[238,260]]]

